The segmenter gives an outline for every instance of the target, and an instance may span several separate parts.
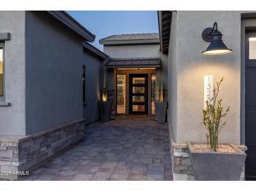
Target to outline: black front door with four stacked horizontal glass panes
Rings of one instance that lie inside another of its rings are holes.
[[[129,114],[147,114],[147,74],[129,76]]]

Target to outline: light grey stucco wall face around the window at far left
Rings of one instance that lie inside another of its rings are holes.
[[[0,135],[25,135],[25,11],[0,11],[0,32],[11,33],[4,46],[5,101]]]

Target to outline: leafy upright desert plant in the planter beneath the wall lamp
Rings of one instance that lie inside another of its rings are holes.
[[[230,107],[227,110],[224,110],[222,107],[222,99],[217,100],[217,97],[220,92],[220,85],[224,78],[220,80],[220,83],[217,82],[217,86],[213,88],[213,98],[210,101],[206,101],[206,109],[203,109],[203,124],[206,126],[208,132],[206,133],[206,139],[208,143],[208,148],[213,151],[217,150],[218,146],[218,136],[226,121],[221,124],[223,117],[227,116],[229,113]]]

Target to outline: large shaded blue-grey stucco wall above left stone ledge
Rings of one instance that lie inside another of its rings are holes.
[[[82,39],[44,12],[26,12],[26,134],[83,118]]]

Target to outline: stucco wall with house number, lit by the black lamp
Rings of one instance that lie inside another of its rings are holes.
[[[173,122],[175,139],[177,142],[206,142],[202,124],[203,76],[213,75],[215,83],[224,77],[220,98],[224,107],[231,107],[220,142],[240,144],[241,14],[237,11],[177,11],[173,19],[177,22],[177,35],[175,49],[170,51],[171,55],[176,52],[176,58],[170,62],[177,64],[177,94],[170,100],[177,97],[176,123]],[[201,38],[201,32],[212,27],[215,21],[224,43],[233,49],[230,55],[201,55],[209,45]],[[170,85],[169,89],[172,92],[175,87]]]

